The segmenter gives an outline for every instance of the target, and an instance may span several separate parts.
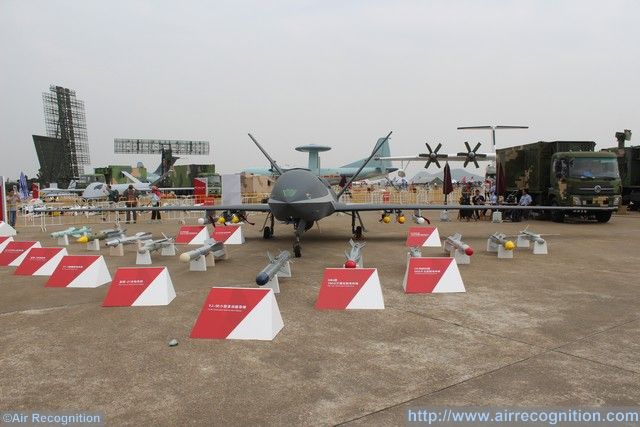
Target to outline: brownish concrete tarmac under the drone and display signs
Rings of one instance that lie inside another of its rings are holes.
[[[475,249],[460,266],[466,293],[405,294],[404,241],[415,224],[369,213],[364,263],[378,269],[386,308],[315,310],[323,270],[343,264],[351,237],[350,217],[334,215],[305,234],[293,277],[280,280],[284,328],[272,342],[189,338],[212,286],[255,287],[267,250],[291,250],[292,227],[277,224],[263,240],[262,215],[207,272],[154,255],[177,293],[165,307],[103,308],[108,284],[45,288],[46,277],[0,267],[0,409],[101,411],[108,425],[398,425],[429,406],[640,406],[637,213],[607,224],[429,216],[442,238],[458,232]],[[177,232],[175,222],[146,219],[128,233]],[[485,251],[489,234],[527,225],[557,234],[549,255]],[[63,228],[19,229],[17,240],[56,246],[49,233]],[[124,257],[101,253],[112,275],[135,265],[133,246]]]

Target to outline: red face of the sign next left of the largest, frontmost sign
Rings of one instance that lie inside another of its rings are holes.
[[[165,267],[119,268],[111,282],[103,307],[129,307],[158,278]]]

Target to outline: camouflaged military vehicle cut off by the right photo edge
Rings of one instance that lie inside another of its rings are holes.
[[[640,208],[640,146],[625,147],[624,142],[631,140],[631,131],[616,132],[618,146],[605,148],[604,151],[615,153],[618,158],[618,169],[622,181],[622,204],[630,210]]]

